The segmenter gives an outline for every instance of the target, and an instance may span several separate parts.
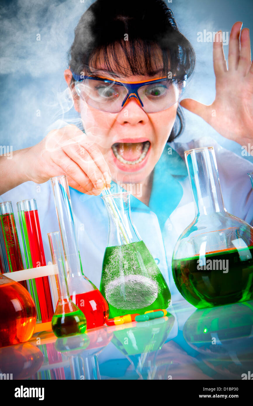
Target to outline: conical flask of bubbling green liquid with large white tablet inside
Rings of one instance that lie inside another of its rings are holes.
[[[167,309],[171,294],[156,261],[134,227],[130,194],[109,194],[102,199],[108,211],[109,234],[100,292],[109,304],[109,317]]]

